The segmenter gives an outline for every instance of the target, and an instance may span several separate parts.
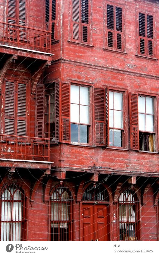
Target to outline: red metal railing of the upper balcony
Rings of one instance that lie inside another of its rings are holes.
[[[0,44],[49,52],[51,49],[51,32],[0,22]]]

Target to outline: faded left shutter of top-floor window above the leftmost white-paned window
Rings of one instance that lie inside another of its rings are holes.
[[[80,39],[80,0],[72,0],[73,40]]]

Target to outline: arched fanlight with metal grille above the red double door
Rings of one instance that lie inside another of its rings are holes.
[[[89,187],[84,191],[83,194],[83,201],[104,201],[104,202],[109,202],[109,195],[106,190],[102,185],[96,187],[93,187],[93,184],[89,185]]]

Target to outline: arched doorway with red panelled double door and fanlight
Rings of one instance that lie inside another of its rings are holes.
[[[110,241],[110,204],[107,189],[89,185],[83,193],[81,204],[82,241]]]

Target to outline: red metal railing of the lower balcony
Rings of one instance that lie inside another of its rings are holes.
[[[0,158],[49,161],[48,138],[0,134]]]

